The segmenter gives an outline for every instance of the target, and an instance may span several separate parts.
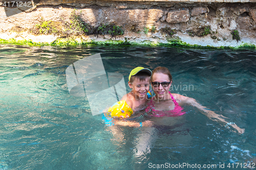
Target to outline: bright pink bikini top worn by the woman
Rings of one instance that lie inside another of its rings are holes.
[[[167,110],[167,111],[160,111],[160,110],[155,110],[155,105],[154,105],[154,101],[152,98],[152,100],[148,103],[147,107],[146,107],[146,112],[151,112],[150,116],[154,116],[154,117],[162,117],[162,116],[166,116],[166,117],[175,117],[175,116],[181,116],[182,114],[186,113],[186,112],[182,112],[182,107],[179,106],[179,104],[176,102],[176,100],[174,99],[174,96],[169,92],[170,97],[172,98],[173,102],[174,102],[174,109],[173,110]]]

